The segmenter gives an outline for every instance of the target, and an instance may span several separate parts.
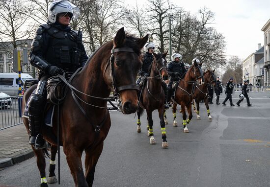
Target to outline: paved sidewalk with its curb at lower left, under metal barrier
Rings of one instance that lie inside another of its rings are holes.
[[[0,168],[23,162],[35,154],[24,124],[0,130]]]

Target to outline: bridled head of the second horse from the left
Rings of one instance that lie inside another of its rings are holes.
[[[167,61],[166,61],[166,55],[168,51],[164,52],[163,54],[159,53],[156,54],[153,52],[155,59],[152,64],[152,68],[157,70],[159,74],[161,74],[162,79],[167,80],[168,79],[168,72],[167,72]],[[155,66],[155,67],[153,67]]]

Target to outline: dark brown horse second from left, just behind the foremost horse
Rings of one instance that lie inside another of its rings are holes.
[[[168,52],[168,51],[167,51]],[[143,113],[143,109],[146,109],[147,113],[147,130],[148,136],[150,136],[150,144],[156,144],[153,134],[153,119],[152,112],[156,109],[159,111],[160,123],[161,123],[161,131],[162,131],[162,148],[168,147],[168,142],[166,140],[166,129],[163,118],[164,113],[164,99],[165,94],[162,89],[162,79],[168,79],[168,72],[166,68],[166,55],[167,52],[163,54],[153,53],[155,58],[151,64],[150,76],[147,77],[141,93],[141,99],[139,101],[139,108],[137,111],[138,121],[137,121],[137,132],[141,132],[140,128],[140,116]],[[165,83],[164,83],[165,84]]]

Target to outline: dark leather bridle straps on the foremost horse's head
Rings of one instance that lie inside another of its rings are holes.
[[[124,85],[124,86],[119,86],[117,87],[116,85],[116,80],[115,80],[115,70],[114,70],[114,57],[113,53],[116,52],[135,52],[133,48],[130,47],[120,47],[120,48],[113,48],[110,50],[111,56],[110,56],[110,70],[111,70],[111,75],[112,75],[112,87],[113,91],[115,94],[118,94],[120,91],[123,90],[139,90],[139,86],[135,84],[129,84],[129,85]]]

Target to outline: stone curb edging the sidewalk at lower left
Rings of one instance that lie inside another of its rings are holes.
[[[1,159],[0,160],[0,168],[8,167],[8,166],[11,166],[14,164],[21,163],[27,159],[32,158],[33,156],[35,156],[35,153],[33,152],[33,150],[28,150],[27,152],[16,155],[14,157]]]

